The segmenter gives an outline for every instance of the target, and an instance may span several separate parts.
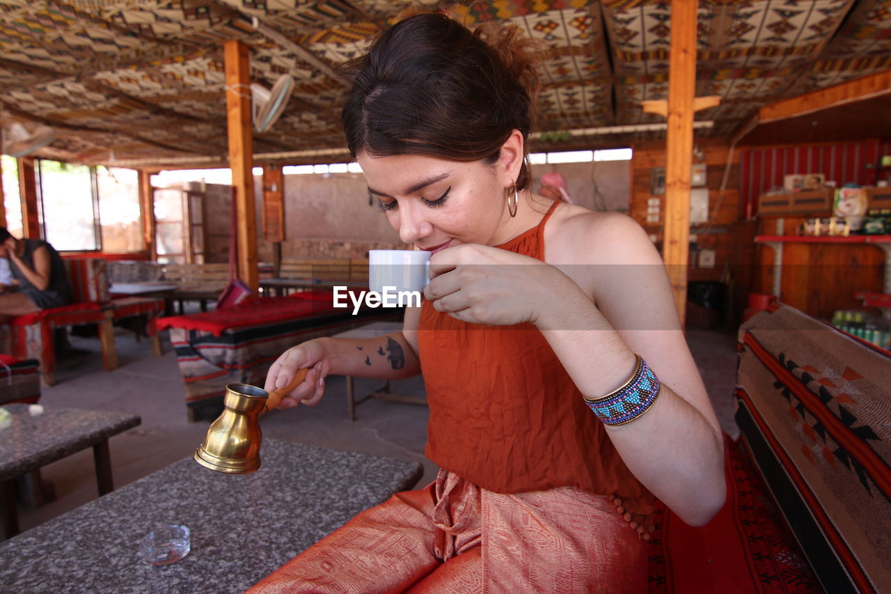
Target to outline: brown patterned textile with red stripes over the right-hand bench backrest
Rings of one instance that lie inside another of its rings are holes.
[[[783,305],[739,351],[744,445],[823,588],[891,591],[891,353]]]

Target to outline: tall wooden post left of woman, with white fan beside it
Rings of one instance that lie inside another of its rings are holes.
[[[238,216],[238,275],[257,291],[257,215],[254,213],[253,155],[250,113],[250,63],[248,46],[226,41],[225,103],[229,122],[229,167],[235,188],[233,208]]]

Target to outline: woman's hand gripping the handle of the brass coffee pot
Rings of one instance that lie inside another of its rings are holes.
[[[272,392],[276,388],[287,386],[298,370],[304,367],[310,367],[306,378],[288,394],[284,394],[282,401],[275,408],[294,408],[300,402],[315,406],[322,400],[325,391],[324,378],[331,369],[330,356],[324,347],[323,339],[302,342],[284,351],[269,368],[264,389],[266,392]]]

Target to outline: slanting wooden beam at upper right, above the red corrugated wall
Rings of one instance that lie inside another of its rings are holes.
[[[786,120],[813,113],[813,111],[889,94],[891,94],[891,70],[885,70],[849,80],[840,85],[822,88],[819,91],[813,91],[813,93],[764,105],[758,110],[757,122],[763,124],[769,121]]]

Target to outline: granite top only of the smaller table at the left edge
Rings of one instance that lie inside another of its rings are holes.
[[[0,408],[9,413],[0,413],[0,480],[45,466],[142,422],[121,412],[28,404]]]

